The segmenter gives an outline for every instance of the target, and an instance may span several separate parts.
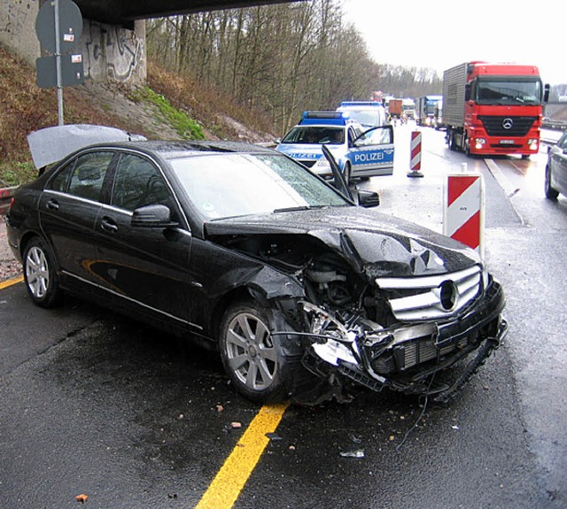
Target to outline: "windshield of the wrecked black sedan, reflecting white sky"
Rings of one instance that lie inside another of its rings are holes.
[[[171,160],[191,202],[207,220],[348,201],[279,154],[207,154]]]

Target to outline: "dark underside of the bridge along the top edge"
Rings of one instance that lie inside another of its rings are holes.
[[[133,27],[136,19],[160,18],[191,12],[218,11],[297,0],[74,0],[82,17],[110,25]]]

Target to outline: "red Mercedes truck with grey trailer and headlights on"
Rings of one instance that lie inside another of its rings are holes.
[[[443,73],[443,122],[451,150],[467,155],[540,150],[542,103],[549,86],[536,66],[465,62]]]

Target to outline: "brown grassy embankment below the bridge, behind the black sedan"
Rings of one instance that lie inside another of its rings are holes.
[[[167,116],[152,102],[145,88],[120,84],[64,89],[65,124],[98,124],[119,127],[148,138],[194,137],[181,132],[169,117],[196,121],[207,139],[261,142],[273,139],[272,128],[257,112],[239,107],[234,99],[209,87],[148,64],[148,87],[166,98]],[[154,97],[156,94],[151,94]],[[19,184],[35,176],[27,149],[27,135],[58,125],[56,89],[40,89],[35,69],[0,46],[0,187]],[[246,126],[246,127],[245,127]],[[183,129],[182,129],[183,131]],[[258,133],[261,133],[260,135]]]

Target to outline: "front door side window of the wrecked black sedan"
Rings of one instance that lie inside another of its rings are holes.
[[[176,216],[167,183],[148,159],[123,154],[116,168],[112,204],[129,212],[151,204],[167,205]]]

